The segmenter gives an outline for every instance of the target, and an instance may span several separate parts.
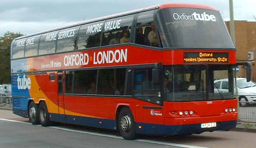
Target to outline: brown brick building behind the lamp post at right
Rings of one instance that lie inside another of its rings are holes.
[[[248,61],[252,65],[251,79],[256,82],[256,22],[235,20],[237,62]],[[230,32],[230,22],[225,22]],[[252,57],[254,56],[254,57]],[[239,66],[237,77],[246,78],[246,70]]]

